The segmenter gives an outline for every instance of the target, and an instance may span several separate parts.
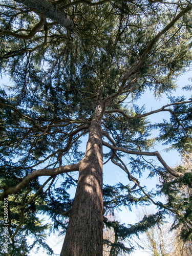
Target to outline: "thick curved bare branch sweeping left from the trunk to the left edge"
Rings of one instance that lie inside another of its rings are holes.
[[[37,177],[41,176],[56,176],[58,174],[63,174],[63,173],[69,173],[69,172],[75,172],[79,169],[79,163],[71,164],[71,165],[65,165],[65,166],[59,166],[57,168],[45,168],[45,169],[39,169],[39,170],[34,170],[34,172],[30,173],[27,175],[22,182],[17,184],[14,187],[10,187],[0,195],[0,199],[4,200],[4,198],[8,195],[11,194],[16,194],[18,193],[21,189],[27,186],[32,180],[34,180]]]

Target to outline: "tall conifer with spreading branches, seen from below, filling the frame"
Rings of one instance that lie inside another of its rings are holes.
[[[190,238],[190,195],[178,210],[170,197],[156,200],[165,187],[151,193],[139,177],[147,172],[167,187],[170,177],[191,186],[191,172],[168,166],[156,143],[191,152],[192,100],[170,96],[192,59],[191,2],[1,0],[0,8],[0,189],[2,202],[8,199],[8,255],[30,255],[35,246],[52,254],[46,232],[59,230],[66,233],[60,256],[100,256],[103,222],[115,232],[114,243],[104,240],[110,255],[129,253],[133,247],[123,241],[131,243],[168,212],[186,221]],[[148,90],[167,95],[168,103],[146,112],[137,101]],[[160,112],[167,120],[149,121]],[[103,185],[109,161],[127,180]],[[121,205],[150,202],[159,211],[135,226],[103,217]]]

